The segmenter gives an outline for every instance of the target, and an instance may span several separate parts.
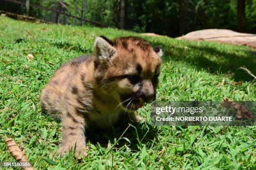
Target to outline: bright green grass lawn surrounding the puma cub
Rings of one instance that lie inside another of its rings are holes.
[[[0,17],[0,161],[14,161],[5,146],[7,135],[26,148],[28,160],[38,169],[256,169],[255,126],[133,124],[127,131],[115,128],[90,133],[88,157],[59,158],[55,152],[61,124],[42,114],[40,92],[61,63],[91,54],[99,35],[138,34]],[[238,69],[245,66],[256,74],[256,53],[251,48],[144,38],[165,51],[157,100],[256,99],[255,80]],[[33,61],[27,60],[28,54],[34,56]],[[242,83],[233,85],[233,81]],[[149,105],[138,114],[149,121]]]

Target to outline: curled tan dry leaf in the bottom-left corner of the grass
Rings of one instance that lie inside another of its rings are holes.
[[[10,154],[13,156],[13,158],[15,160],[17,160],[18,162],[28,162],[26,155],[25,155],[25,149],[22,148],[20,150],[20,148],[18,147],[18,145],[15,143],[15,141],[11,138],[7,138],[7,136],[5,136],[5,143],[6,146],[10,152]],[[33,167],[22,167],[24,170],[33,170]]]

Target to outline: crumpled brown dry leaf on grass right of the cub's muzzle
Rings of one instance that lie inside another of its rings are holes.
[[[249,112],[246,107],[239,105],[236,102],[233,102],[228,97],[224,97],[224,100],[220,103],[223,107],[230,108],[233,107],[234,110],[237,111],[236,117],[238,118],[248,118],[250,120],[253,119],[253,115]]]

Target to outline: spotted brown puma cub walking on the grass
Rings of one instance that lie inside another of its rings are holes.
[[[62,65],[41,94],[43,110],[62,120],[59,153],[76,144],[76,154],[87,155],[87,128],[108,128],[124,115],[139,122],[135,110],[156,98],[161,55],[139,37],[97,37],[93,55]]]

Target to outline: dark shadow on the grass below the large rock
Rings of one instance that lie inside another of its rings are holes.
[[[159,45],[159,43],[158,43]],[[251,81],[253,77],[239,67],[246,67],[253,74],[256,73],[256,52],[243,50],[243,55],[236,53],[238,48],[232,52],[218,50],[209,45],[197,46],[186,43],[187,47],[175,47],[170,44],[161,44],[164,50],[164,62],[169,60],[184,61],[195,66],[197,70],[205,70],[210,73],[229,74],[235,81]],[[227,47],[228,48],[228,47]]]

